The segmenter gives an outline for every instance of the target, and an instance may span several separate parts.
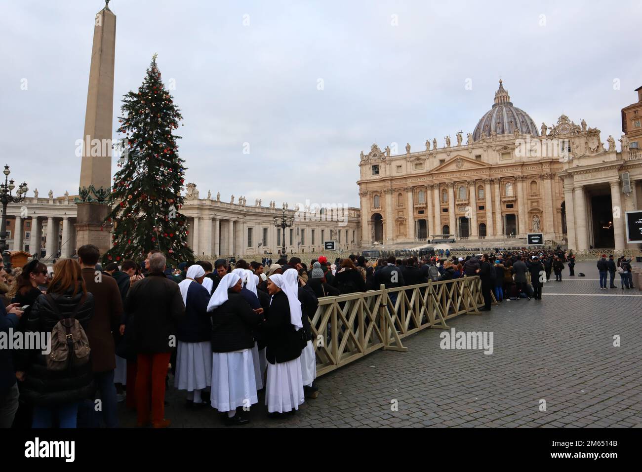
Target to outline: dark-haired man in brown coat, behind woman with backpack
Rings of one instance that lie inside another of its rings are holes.
[[[100,258],[98,247],[88,244],[78,249],[78,263],[87,292],[94,295],[94,316],[89,322],[87,338],[91,347],[91,367],[96,389],[100,392],[101,413],[107,428],[118,427],[116,411],[116,351],[112,331],[116,331],[123,315],[121,291],[113,277],[96,270]],[[129,281],[128,281],[129,282]],[[98,420],[98,415],[96,415]],[[98,424],[94,424],[98,426]]]

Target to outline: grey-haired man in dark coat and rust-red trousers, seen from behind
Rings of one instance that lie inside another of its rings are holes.
[[[176,345],[177,324],[185,315],[178,284],[165,277],[165,261],[162,253],[152,254],[150,271],[130,288],[125,301],[125,311],[134,317],[134,345],[138,354],[138,426],[148,424],[151,416],[155,428],[169,426],[169,421],[164,419],[165,377]]]

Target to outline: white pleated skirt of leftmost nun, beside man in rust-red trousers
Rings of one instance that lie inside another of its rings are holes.
[[[178,341],[174,387],[203,390],[212,385],[212,343]]]

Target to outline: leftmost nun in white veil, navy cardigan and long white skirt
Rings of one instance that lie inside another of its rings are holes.
[[[209,292],[202,286],[204,276],[205,270],[195,264],[178,284],[186,316],[178,323],[174,387],[187,390],[189,406],[207,405],[201,390],[212,385],[212,322],[207,313]]]

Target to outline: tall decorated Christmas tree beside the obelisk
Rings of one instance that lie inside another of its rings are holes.
[[[185,182],[183,160],[178,157],[173,130],[182,119],[180,110],[160,81],[156,55],[138,92],[128,92],[121,107],[117,132],[125,134],[114,186],[110,194],[113,223],[112,247],[107,262],[139,260],[152,249],[168,258],[168,265],[193,260],[187,246],[187,218],[179,212]]]

